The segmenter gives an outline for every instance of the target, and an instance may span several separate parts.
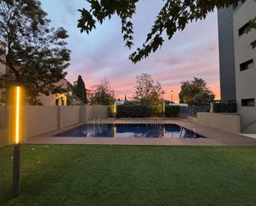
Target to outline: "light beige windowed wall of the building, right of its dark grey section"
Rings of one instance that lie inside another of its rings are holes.
[[[256,30],[239,36],[239,28],[256,17],[256,1],[245,1],[239,9],[234,12],[234,57],[236,76],[236,97],[238,113],[241,115],[243,132],[256,132],[256,106],[243,107],[241,100],[244,98],[255,98],[256,102],[256,49],[252,49],[250,43],[255,40]],[[240,71],[240,64],[254,59],[254,67]],[[252,124],[252,122],[254,122]],[[245,131],[246,130],[246,131]]]

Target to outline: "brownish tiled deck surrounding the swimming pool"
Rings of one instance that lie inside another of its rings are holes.
[[[88,121],[86,123],[93,123]],[[106,119],[101,120],[105,123],[173,123],[186,127],[188,129],[195,129],[197,133],[208,137],[204,139],[171,139],[171,138],[99,138],[99,137],[51,137],[56,133],[65,132],[66,130],[77,127],[65,127],[59,131],[48,132],[39,137],[32,137],[27,141],[27,144],[87,144],[87,145],[133,145],[133,146],[256,146],[256,139],[245,137],[239,134],[225,132],[212,127],[206,127],[193,122],[187,122],[181,119]]]

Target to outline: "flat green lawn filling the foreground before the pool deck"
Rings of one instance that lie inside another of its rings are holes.
[[[11,199],[0,148],[0,205],[256,205],[256,147],[22,146],[21,170]]]

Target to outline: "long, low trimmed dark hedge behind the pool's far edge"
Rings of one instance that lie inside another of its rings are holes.
[[[166,106],[165,117],[176,117],[180,112],[179,106]],[[162,117],[162,105],[118,105],[117,118]],[[114,106],[109,106],[109,117],[114,117]]]

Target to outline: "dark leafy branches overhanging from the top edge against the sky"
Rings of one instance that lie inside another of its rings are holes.
[[[96,28],[96,23],[117,15],[122,22],[123,40],[131,49],[133,46],[133,14],[137,3],[142,0],[87,0],[86,8],[80,9],[78,27],[81,32],[89,33]],[[205,19],[208,13],[222,7],[237,7],[239,0],[163,0],[164,5],[157,14],[146,41],[129,56],[133,63],[147,58],[164,43],[164,36],[170,40],[176,31],[183,31],[192,21]],[[87,9],[88,8],[88,9]]]

